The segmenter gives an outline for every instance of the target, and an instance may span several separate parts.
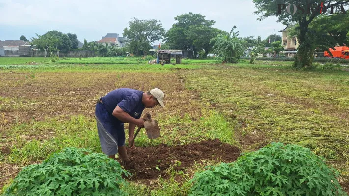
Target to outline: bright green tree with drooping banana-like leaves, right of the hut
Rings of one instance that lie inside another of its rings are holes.
[[[242,40],[238,38],[239,31],[234,32],[236,26],[228,34],[219,34],[211,40],[214,42],[213,51],[217,55],[224,57],[228,63],[236,63],[237,59],[243,54],[244,46]]]

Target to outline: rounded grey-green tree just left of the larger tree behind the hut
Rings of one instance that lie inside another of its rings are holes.
[[[144,55],[146,55],[150,44],[154,41],[161,40],[164,34],[165,29],[162,27],[160,21],[134,18],[129,22],[129,28],[124,29],[122,35],[129,42],[133,44],[137,43],[137,51],[142,50]]]

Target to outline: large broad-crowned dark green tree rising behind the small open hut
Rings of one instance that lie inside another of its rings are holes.
[[[210,27],[215,24],[214,20],[206,20],[205,16],[201,14],[193,14],[191,12],[176,16],[174,19],[177,22],[172,25],[165,35],[165,41],[171,49],[192,49],[194,51],[194,56],[196,57],[198,50],[203,49],[202,46],[210,45],[208,38],[212,36],[212,33],[215,33],[214,29],[210,29]],[[211,33],[203,33],[204,29],[209,29]],[[206,42],[204,43],[195,39],[195,36],[198,35],[202,36]],[[194,41],[196,41],[196,44],[200,46],[196,46]],[[207,50],[209,49],[206,49],[205,53]]]

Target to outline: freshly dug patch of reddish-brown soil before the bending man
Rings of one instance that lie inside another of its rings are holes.
[[[132,173],[131,180],[156,179],[169,177],[168,170],[185,172],[185,168],[200,163],[200,160],[232,162],[240,155],[236,146],[223,144],[218,139],[178,146],[159,145],[129,150],[130,159],[124,168]]]

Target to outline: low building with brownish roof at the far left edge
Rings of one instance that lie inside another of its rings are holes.
[[[32,56],[30,42],[22,40],[5,40],[0,42],[0,56]]]

